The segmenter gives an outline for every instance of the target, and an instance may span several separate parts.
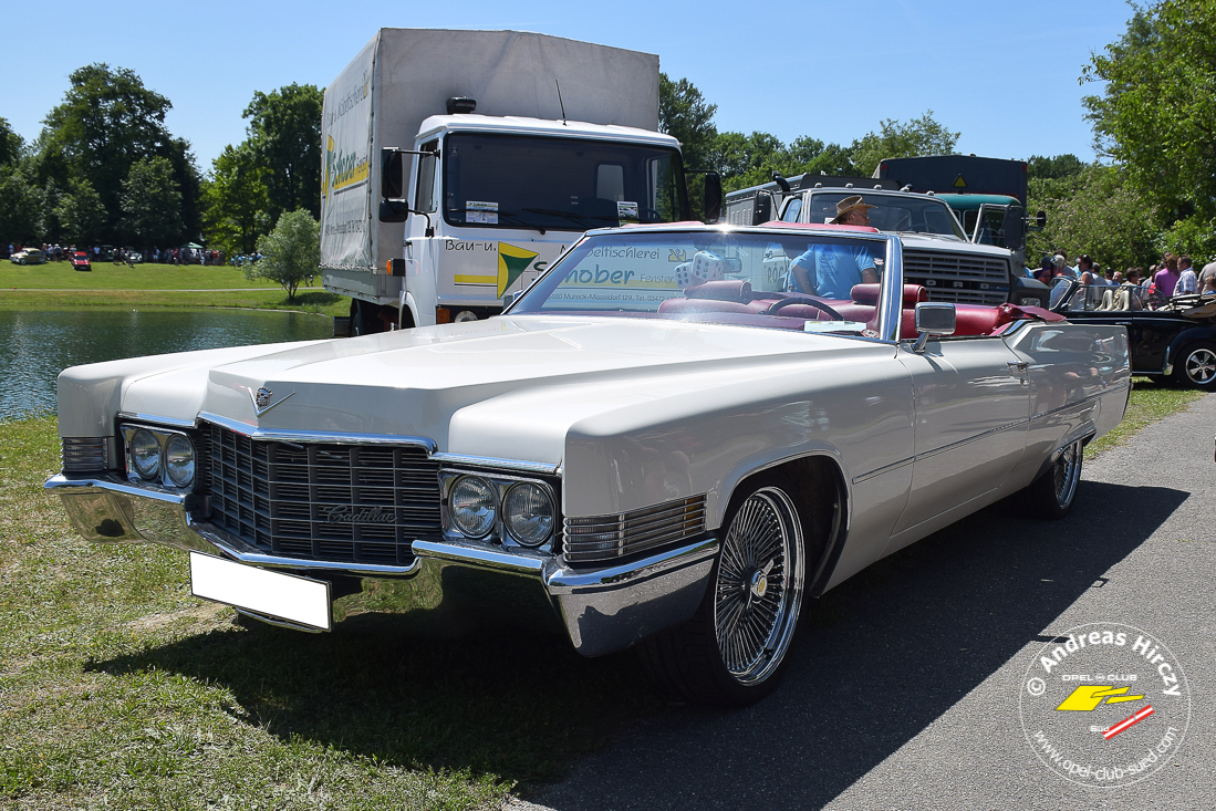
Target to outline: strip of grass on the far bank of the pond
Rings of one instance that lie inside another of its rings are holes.
[[[317,276],[316,285],[321,278]],[[67,306],[199,308],[236,306],[347,315],[350,300],[321,287],[303,287],[294,302],[274,282],[249,280],[236,267],[201,265],[114,265],[90,272],[66,261],[15,265],[0,260],[0,308]]]

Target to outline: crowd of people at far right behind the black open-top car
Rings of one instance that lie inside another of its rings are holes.
[[[1128,267],[1119,271],[1110,266],[1099,267],[1088,254],[1076,258],[1076,265],[1070,264],[1068,253],[1060,250],[1052,255],[1045,255],[1038,270],[1028,269],[1028,276],[1037,278],[1045,285],[1052,286],[1058,276],[1068,276],[1080,282],[1082,288],[1087,288],[1088,299],[1100,300],[1103,288],[1136,288],[1136,299],[1144,302],[1145,306],[1155,308],[1169,302],[1175,295],[1186,294],[1216,294],[1216,261],[1204,265],[1203,270],[1195,272],[1194,261],[1187,255],[1166,253],[1161,261],[1150,265],[1145,271],[1142,267]],[[1053,288],[1052,305],[1054,305],[1057,291]],[[1109,297],[1107,297],[1109,299]]]

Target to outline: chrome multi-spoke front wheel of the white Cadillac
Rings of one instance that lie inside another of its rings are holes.
[[[714,584],[714,635],[731,677],[759,685],[781,665],[803,602],[803,533],[794,502],[761,488],[739,506]]]

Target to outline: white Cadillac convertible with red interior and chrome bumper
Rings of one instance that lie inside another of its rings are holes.
[[[1121,327],[929,300],[901,252],[592,231],[486,321],[68,368],[46,486],[265,621],[550,626],[751,702],[806,598],[1018,491],[1068,513],[1127,405]]]

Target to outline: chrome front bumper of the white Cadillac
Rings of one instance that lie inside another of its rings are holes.
[[[163,544],[331,582],[334,627],[378,625],[449,636],[485,621],[564,631],[587,657],[621,651],[683,623],[700,603],[717,539],[602,569],[477,542],[415,541],[409,567],[302,561],[266,554],[191,518],[186,497],[117,477],[58,474],[46,481],[81,537]],[[272,618],[265,618],[272,621]]]

